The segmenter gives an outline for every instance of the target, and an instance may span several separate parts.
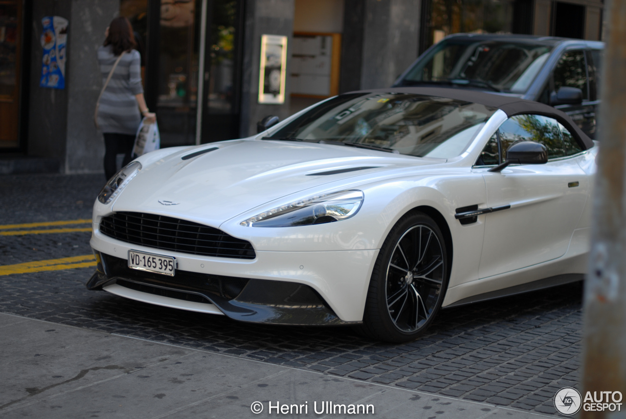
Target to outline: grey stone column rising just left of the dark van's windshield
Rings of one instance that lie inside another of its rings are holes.
[[[418,57],[420,9],[421,0],[345,0],[341,91],[393,84]]]

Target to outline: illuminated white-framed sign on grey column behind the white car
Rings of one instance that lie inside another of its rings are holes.
[[[285,102],[286,74],[287,37],[261,36],[259,103],[281,104]]]

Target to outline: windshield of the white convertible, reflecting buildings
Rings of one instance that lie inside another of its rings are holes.
[[[421,94],[349,93],[320,103],[264,139],[447,159],[463,153],[496,110]]]

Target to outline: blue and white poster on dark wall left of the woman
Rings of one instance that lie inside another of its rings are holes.
[[[41,59],[39,86],[64,89],[68,19],[61,18],[61,16],[46,16],[41,19],[41,24],[43,25],[41,34],[43,58]]]

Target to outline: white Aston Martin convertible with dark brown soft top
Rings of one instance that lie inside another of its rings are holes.
[[[441,307],[583,278],[596,153],[567,115],[519,98],[342,94],[121,169],[93,208],[87,286],[413,340]]]

